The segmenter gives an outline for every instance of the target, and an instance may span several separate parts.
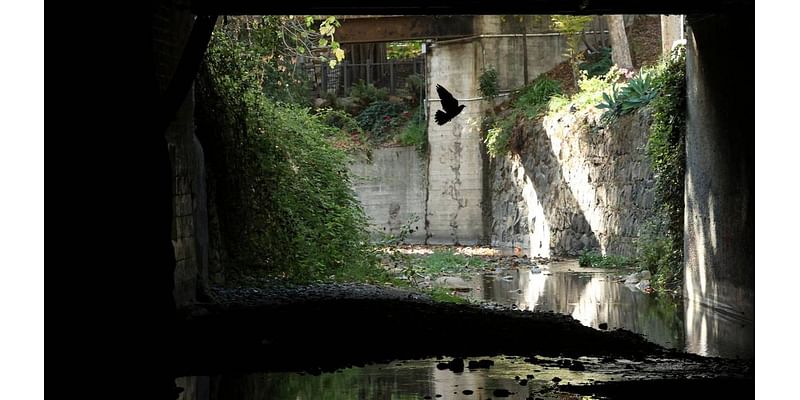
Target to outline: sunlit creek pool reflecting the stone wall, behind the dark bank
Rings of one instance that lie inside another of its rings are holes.
[[[753,358],[755,323],[738,315],[687,301],[645,294],[604,270],[577,262],[482,274],[467,296],[522,310],[571,315],[583,325],[624,328],[664,347],[702,356]]]

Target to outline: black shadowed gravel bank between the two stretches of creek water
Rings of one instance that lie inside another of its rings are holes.
[[[600,331],[558,313],[437,303],[397,289],[333,285],[277,293],[242,289],[229,295],[229,301],[181,322],[175,376],[332,372],[442,355],[704,360],[630,331]]]

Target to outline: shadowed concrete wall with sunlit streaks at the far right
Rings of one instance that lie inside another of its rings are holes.
[[[730,54],[742,51],[730,37],[752,35],[753,22],[733,15],[688,17],[687,22],[686,307],[698,316],[738,316],[744,326],[736,334],[752,338],[754,78],[751,66],[730,62]],[[700,312],[703,307],[710,311]],[[687,323],[687,329],[694,326]]]

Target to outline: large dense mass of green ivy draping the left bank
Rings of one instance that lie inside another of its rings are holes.
[[[215,32],[198,84],[198,114],[221,153],[210,164],[233,266],[300,282],[381,279],[348,155],[328,140],[347,125],[279,101],[287,98],[265,90],[273,79],[265,70],[287,73],[259,48]]]

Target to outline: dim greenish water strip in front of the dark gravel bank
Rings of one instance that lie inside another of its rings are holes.
[[[180,400],[485,400],[497,397],[494,391],[498,389],[509,392],[508,397],[503,398],[524,400],[534,394],[536,397],[542,396],[537,392],[552,386],[550,380],[556,374],[564,377],[565,381],[573,374],[561,369],[538,369],[538,378],[522,385],[515,377],[525,379],[527,374],[534,373],[535,366],[518,357],[493,359],[495,365],[490,369],[465,369],[457,373],[439,370],[435,367],[438,361],[429,359],[368,365],[319,376],[256,373],[184,377],[176,383],[186,389]],[[586,379],[583,381],[588,382]],[[198,390],[198,382],[208,382],[206,390]],[[465,394],[465,390],[471,393]],[[570,398],[564,394],[559,396]]]

